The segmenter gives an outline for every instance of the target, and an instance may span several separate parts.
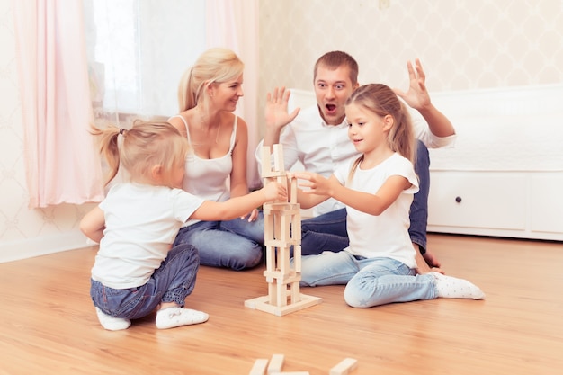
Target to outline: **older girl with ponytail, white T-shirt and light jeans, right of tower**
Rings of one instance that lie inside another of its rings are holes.
[[[345,284],[344,299],[354,308],[439,297],[483,299],[469,281],[417,272],[424,259],[408,235],[408,212],[418,191],[416,150],[397,94],[387,85],[362,85],[346,102],[345,113],[348,136],[362,155],[328,179],[307,172],[293,176],[308,188],[298,192],[302,208],[330,197],[346,205],[350,246],[304,256],[301,284]]]

